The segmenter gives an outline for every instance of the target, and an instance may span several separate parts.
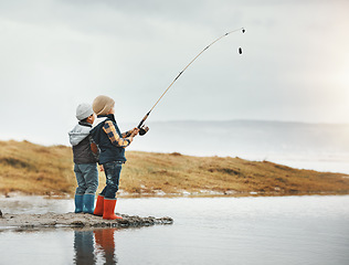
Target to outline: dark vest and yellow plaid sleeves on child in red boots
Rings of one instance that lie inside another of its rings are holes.
[[[114,128],[112,129],[110,126],[114,127],[115,130]],[[129,136],[130,132],[120,132],[113,114],[99,115],[95,120],[91,135],[101,150],[99,163],[110,161],[126,162],[125,147],[127,147],[130,141],[124,138]]]

